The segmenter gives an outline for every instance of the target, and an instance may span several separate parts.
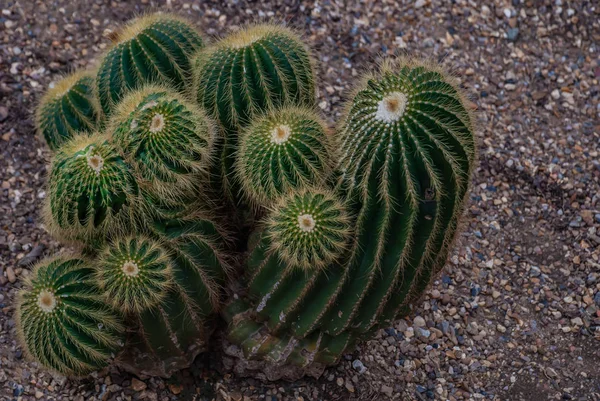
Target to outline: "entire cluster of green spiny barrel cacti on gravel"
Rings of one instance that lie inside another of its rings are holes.
[[[20,295],[33,358],[168,376],[222,321],[238,371],[293,378],[410,312],[444,266],[475,159],[453,78],[384,61],[330,129],[288,28],[207,44],[156,14],[114,39],[38,106],[45,223],[79,251],[39,263]]]

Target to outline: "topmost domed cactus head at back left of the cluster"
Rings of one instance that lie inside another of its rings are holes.
[[[189,22],[170,14],[136,18],[114,35],[113,42],[96,76],[98,98],[106,115],[129,90],[146,83],[185,89],[191,76],[190,58],[203,46]]]

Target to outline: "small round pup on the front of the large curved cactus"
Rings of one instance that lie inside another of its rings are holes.
[[[304,270],[322,269],[337,260],[351,236],[344,205],[323,190],[283,196],[272,208],[266,230],[281,260]]]

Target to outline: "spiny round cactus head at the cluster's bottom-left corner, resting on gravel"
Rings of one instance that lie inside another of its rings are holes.
[[[91,263],[77,256],[40,262],[19,293],[16,317],[26,353],[66,376],[107,366],[123,346],[119,315],[106,305]]]

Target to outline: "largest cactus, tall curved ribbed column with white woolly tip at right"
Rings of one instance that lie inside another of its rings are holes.
[[[255,272],[251,308],[228,312],[228,338],[245,357],[273,359],[274,349],[293,344],[315,356],[324,347],[324,364],[335,363],[350,344],[410,310],[444,266],[462,215],[475,161],[473,116],[465,105],[451,77],[418,61],[386,62],[363,80],[339,130],[334,180],[353,216],[348,251],[311,274],[290,268],[296,277],[289,279],[275,261],[294,264],[285,256],[273,261],[265,250],[279,242],[263,236],[247,261]],[[296,254],[289,244],[285,252]],[[316,348],[306,343],[317,338]],[[290,356],[283,361],[314,367]]]

